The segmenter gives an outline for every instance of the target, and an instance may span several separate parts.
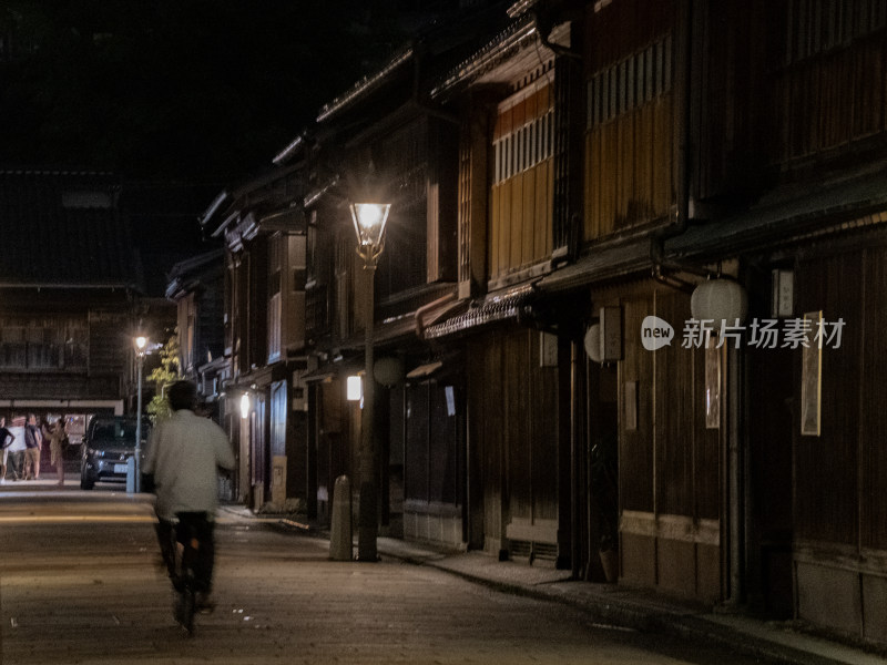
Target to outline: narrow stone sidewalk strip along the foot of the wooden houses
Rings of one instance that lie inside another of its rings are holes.
[[[256,520],[316,538],[328,533],[297,519],[255,515],[242,507],[223,507],[220,519]],[[447,571],[507,593],[565,603],[597,623],[639,631],[666,632],[715,641],[748,655],[791,665],[887,665],[874,647],[838,642],[799,622],[765,622],[741,613],[700,610],[642,590],[571,581],[568,571],[526,562],[499,561],[482,552],[445,552],[399,539],[379,538],[379,555]]]

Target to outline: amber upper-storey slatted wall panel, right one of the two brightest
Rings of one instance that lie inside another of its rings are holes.
[[[671,1],[640,0],[587,12],[587,69],[603,76],[585,134],[585,241],[665,217],[675,201],[674,14]]]

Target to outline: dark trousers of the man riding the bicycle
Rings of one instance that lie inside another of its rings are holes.
[[[213,585],[215,564],[215,525],[206,519],[205,512],[181,512],[176,516],[177,523],[161,519],[155,526],[163,562],[170,577],[175,580],[179,574],[175,570],[175,546],[181,543],[186,554],[190,551],[193,556],[195,591],[208,593]]]

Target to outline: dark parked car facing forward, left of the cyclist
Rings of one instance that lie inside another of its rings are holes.
[[[124,416],[96,416],[90,420],[81,446],[80,488],[91,490],[96,482],[126,482],[130,458],[135,454],[136,419]],[[142,461],[151,421],[142,420]]]

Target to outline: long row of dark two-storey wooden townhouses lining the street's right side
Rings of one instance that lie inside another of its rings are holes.
[[[486,12],[278,155],[300,191],[274,211],[303,215],[282,275],[294,249],[305,270],[279,377],[261,187],[217,217],[232,386],[305,405],[286,450],[308,515],[361,472],[345,381],[371,317],[389,533],[887,642],[885,0]],[[371,310],[348,213],[367,175],[391,203]],[[711,279],[747,311],[694,336]],[[254,487],[267,458],[242,451]]]

